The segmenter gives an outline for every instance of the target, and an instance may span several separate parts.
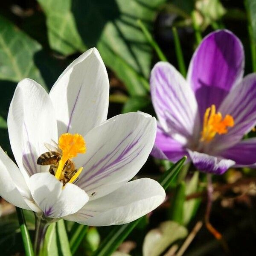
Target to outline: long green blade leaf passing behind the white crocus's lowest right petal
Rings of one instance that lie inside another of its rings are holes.
[[[186,157],[181,158],[177,163],[175,163],[168,171],[163,174],[163,177],[161,177],[159,182],[164,189],[167,189],[169,187],[169,185],[172,183],[172,181],[182,168],[185,161]],[[95,253],[93,253],[93,256],[111,255],[142,219],[143,217],[132,221],[131,223],[113,227],[108,236],[102,241],[99,248],[95,251]]]

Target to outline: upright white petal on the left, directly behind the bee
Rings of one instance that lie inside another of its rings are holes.
[[[46,166],[36,162],[47,151],[44,143],[58,138],[52,110],[51,99],[40,84],[31,79],[18,83],[7,122],[12,152],[26,181],[36,172],[47,171]]]

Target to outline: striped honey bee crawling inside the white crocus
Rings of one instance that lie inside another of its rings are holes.
[[[57,143],[55,143],[57,145]],[[37,164],[39,165],[50,165],[49,172],[52,175],[55,175],[55,172],[58,169],[59,161],[61,160],[62,151],[51,144],[44,143],[45,147],[49,150],[41,156],[38,157]],[[58,146],[58,145],[57,145]],[[70,179],[77,172],[75,164],[72,160],[67,160],[64,164],[64,167],[61,171],[60,181],[63,183],[63,186],[70,181]]]

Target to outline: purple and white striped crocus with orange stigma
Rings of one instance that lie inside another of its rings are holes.
[[[204,38],[186,80],[171,64],[158,62],[150,80],[158,117],[151,154],[173,162],[186,155],[213,174],[256,163],[256,138],[242,140],[256,125],[256,74],[243,73],[243,46],[227,30]]]

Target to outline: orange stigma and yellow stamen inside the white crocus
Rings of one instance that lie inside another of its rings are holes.
[[[58,147],[62,151],[61,160],[58,163],[58,169],[55,173],[55,177],[59,180],[61,172],[64,168],[67,160],[76,157],[78,153],[84,154],[86,152],[86,145],[84,138],[80,134],[62,134],[58,141]],[[81,173],[83,167],[80,167],[73,177],[69,180],[69,183],[73,183]]]

